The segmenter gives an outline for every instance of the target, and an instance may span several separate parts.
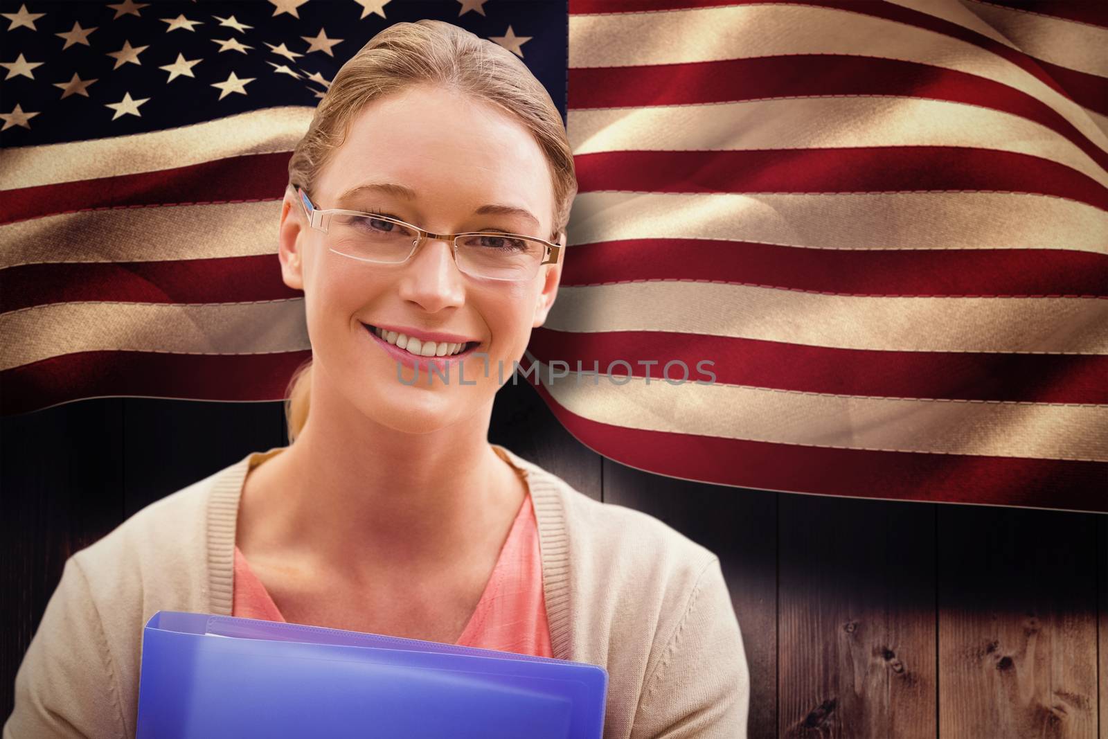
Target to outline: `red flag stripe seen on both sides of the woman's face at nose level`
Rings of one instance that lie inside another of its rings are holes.
[[[199,234],[182,234],[201,239]],[[271,248],[271,245],[270,245]],[[218,302],[301,296],[275,254],[176,261],[31,264],[0,270],[0,311],[64,301]],[[561,285],[683,280],[828,295],[902,297],[1108,297],[1108,260],[1061,250],[842,252],[697,239],[574,246]],[[238,286],[228,296],[223,280]],[[1047,290],[1060,290],[1057,294]],[[584,340],[584,337],[583,337]]]

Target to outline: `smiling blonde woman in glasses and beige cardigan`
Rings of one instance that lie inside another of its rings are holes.
[[[486,440],[499,378],[483,370],[510,373],[545,320],[575,193],[561,115],[506,50],[421,21],[348,61],[281,207],[312,347],[290,444],[70,557],[4,739],[134,736],[160,609],[597,664],[605,739],[745,737],[718,558]]]

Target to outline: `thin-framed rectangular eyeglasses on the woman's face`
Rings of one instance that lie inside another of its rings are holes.
[[[403,264],[424,239],[453,244],[458,268],[473,277],[529,280],[542,265],[556,264],[562,250],[534,236],[501,232],[432,234],[390,216],[341,208],[317,208],[299,186],[297,197],[311,227],[327,234],[327,247],[345,257],[375,264]]]

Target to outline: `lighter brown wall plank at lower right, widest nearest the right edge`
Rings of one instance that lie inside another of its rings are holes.
[[[1096,737],[1095,519],[941,509],[943,737]]]

